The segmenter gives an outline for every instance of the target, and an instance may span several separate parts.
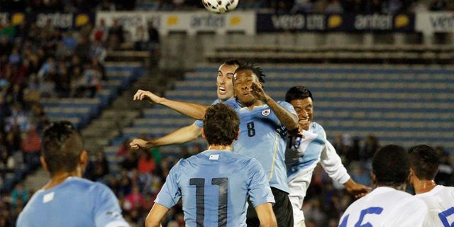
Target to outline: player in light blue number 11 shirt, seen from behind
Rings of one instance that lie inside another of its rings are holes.
[[[239,125],[238,115],[228,106],[206,109],[202,136],[208,150],[172,167],[145,226],[159,226],[180,197],[186,226],[246,226],[248,197],[260,225],[277,226],[265,171],[257,160],[231,152]]]

